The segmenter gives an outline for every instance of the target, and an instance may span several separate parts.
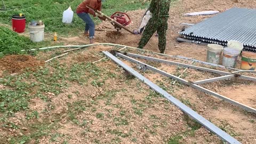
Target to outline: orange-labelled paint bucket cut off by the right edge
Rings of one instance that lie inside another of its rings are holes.
[[[255,70],[256,68],[256,53],[242,52],[241,69]]]

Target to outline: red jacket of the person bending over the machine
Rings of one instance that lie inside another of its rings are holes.
[[[101,11],[101,1],[99,0],[85,0],[77,6],[76,13],[90,13],[95,17],[94,11],[88,9],[86,5],[90,5],[94,9]]]

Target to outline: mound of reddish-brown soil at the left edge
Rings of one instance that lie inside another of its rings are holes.
[[[18,73],[27,68],[36,70],[43,65],[43,61],[39,61],[30,55],[7,55],[0,59],[0,70],[7,70],[9,73]]]

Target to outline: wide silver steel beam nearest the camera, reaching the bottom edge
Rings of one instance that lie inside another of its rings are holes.
[[[175,99],[172,95],[161,89],[161,87],[157,86],[153,82],[149,81],[146,77],[142,76],[140,73],[132,69],[131,67],[125,65],[124,62],[117,59],[114,55],[110,54],[109,52],[103,52],[107,57],[111,60],[115,61],[119,66],[123,67],[125,70],[129,71],[132,75],[139,78],[142,82],[146,83],[151,89],[155,90],[157,93],[162,94],[166,99],[168,99],[173,105],[180,108],[184,113],[188,114],[190,117],[194,118],[198,123],[202,124],[206,129],[210,130],[211,132],[217,134],[221,139],[227,141],[228,143],[241,143],[235,138],[231,137],[228,133],[222,131],[219,127],[215,126],[207,119],[202,117],[201,115],[197,114],[194,110],[180,102],[179,100]]]

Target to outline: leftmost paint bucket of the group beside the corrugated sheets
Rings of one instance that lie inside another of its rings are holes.
[[[207,45],[207,62],[219,64],[223,47],[218,44]]]

